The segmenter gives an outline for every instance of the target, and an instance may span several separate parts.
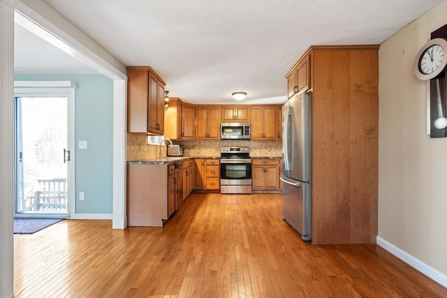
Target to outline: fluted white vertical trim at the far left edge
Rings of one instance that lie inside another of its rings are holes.
[[[0,0],[0,297],[14,297],[14,2]]]

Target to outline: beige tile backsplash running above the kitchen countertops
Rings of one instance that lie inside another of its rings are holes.
[[[247,140],[221,140],[221,141],[179,141],[174,144],[184,146],[185,156],[220,156],[223,146],[250,147],[251,157],[281,157],[281,142],[256,142]],[[166,156],[166,150],[162,150]],[[139,161],[159,157],[159,146],[148,145],[147,135],[144,133],[127,133],[127,161]]]

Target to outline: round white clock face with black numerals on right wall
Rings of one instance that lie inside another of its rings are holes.
[[[441,74],[447,65],[447,40],[433,38],[416,55],[414,72],[420,80],[432,80]]]

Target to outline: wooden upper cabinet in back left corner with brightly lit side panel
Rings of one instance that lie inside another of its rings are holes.
[[[170,98],[165,107],[165,137],[171,140],[194,139],[194,105]]]

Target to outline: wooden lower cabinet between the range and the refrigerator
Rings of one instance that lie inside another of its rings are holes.
[[[279,191],[281,159],[254,158],[251,167],[251,188],[254,191]]]

